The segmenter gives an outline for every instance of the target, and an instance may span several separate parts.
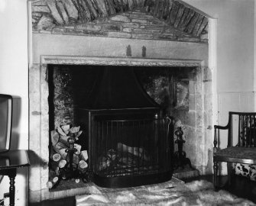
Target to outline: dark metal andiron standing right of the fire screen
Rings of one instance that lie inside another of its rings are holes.
[[[178,169],[179,167],[184,169],[185,165],[189,165],[193,169],[190,159],[186,157],[186,153],[183,151],[183,143],[186,141],[182,138],[183,130],[181,130],[181,127],[177,127],[174,134],[177,136],[175,143],[178,144],[178,151],[174,153],[174,169]]]

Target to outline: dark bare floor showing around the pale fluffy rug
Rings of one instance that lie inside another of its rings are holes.
[[[205,179],[209,182],[213,182],[213,175],[198,176],[196,178],[183,179],[184,182],[191,182],[193,180]],[[256,203],[256,182],[251,182],[245,177],[235,175],[232,177],[231,185],[225,184],[228,180],[227,176],[219,177],[219,185],[222,185],[222,189],[237,195],[240,198],[247,198]],[[29,206],[75,206],[75,197],[63,198],[52,201],[42,201],[41,203],[30,204]]]

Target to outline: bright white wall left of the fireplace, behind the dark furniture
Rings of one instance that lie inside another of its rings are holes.
[[[0,93],[19,98],[12,149],[28,150],[28,19],[26,0],[0,0]],[[18,169],[15,205],[26,205],[28,169]],[[0,183],[0,199],[9,180]],[[5,203],[7,205],[7,202]]]

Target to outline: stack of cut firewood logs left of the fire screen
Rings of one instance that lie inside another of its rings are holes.
[[[80,130],[80,127],[70,127],[70,125],[57,127],[56,130],[51,131],[52,146],[50,151],[50,169],[53,170],[54,175],[52,175],[47,182],[47,188],[53,188],[61,179],[67,179],[66,174],[69,169],[70,161],[72,161],[74,169],[76,169],[77,172],[86,172],[86,168],[88,167],[86,163],[88,159],[87,150],[81,151],[82,146],[76,143],[76,140],[79,139],[82,133],[83,131]],[[68,155],[71,147],[69,138],[75,140],[73,147],[76,149],[76,152],[73,154],[73,159],[70,159]],[[68,172],[70,173],[70,171]],[[73,173],[73,171],[71,173]],[[79,182],[77,175],[68,177],[68,179],[70,178],[76,179],[76,182]]]

